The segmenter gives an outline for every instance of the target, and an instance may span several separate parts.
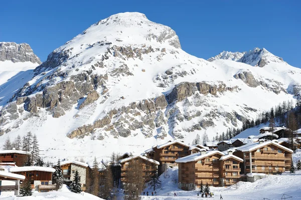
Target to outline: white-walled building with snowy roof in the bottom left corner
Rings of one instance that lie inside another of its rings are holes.
[[[20,180],[24,179],[24,175],[0,171],[0,196],[19,195]]]

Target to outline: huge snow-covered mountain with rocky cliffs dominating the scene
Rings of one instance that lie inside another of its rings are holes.
[[[31,131],[48,159],[105,159],[205,131],[212,138],[299,93],[301,69],[243,58],[248,64],[208,62],[143,14],[113,15],[54,50],[14,90],[0,111],[1,139]]]

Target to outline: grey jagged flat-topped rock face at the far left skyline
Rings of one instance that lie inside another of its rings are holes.
[[[0,61],[42,63],[28,44],[13,42],[0,42]]]

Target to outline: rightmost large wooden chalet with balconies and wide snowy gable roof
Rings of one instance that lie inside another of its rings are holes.
[[[262,141],[236,148],[244,160],[242,173],[282,173],[290,169],[293,151],[274,141]]]

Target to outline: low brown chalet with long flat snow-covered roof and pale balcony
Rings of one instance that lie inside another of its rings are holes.
[[[56,189],[52,184],[52,173],[54,168],[42,166],[23,166],[9,168],[9,172],[25,176],[25,181],[30,181],[33,189],[39,192],[46,192]]]

